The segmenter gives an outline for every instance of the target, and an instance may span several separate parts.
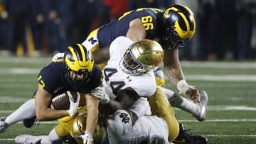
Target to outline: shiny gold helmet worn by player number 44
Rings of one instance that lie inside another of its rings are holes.
[[[164,59],[164,50],[154,40],[139,40],[133,43],[120,62],[124,72],[143,74],[158,67]]]

